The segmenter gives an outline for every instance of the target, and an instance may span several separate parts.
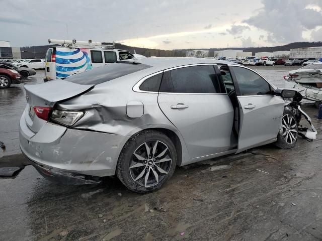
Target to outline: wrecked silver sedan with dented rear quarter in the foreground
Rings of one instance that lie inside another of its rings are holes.
[[[298,135],[296,108],[283,98],[296,91],[231,62],[121,61],[25,89],[21,150],[61,183],[117,175],[144,193],[176,166],[273,142],[289,149]]]

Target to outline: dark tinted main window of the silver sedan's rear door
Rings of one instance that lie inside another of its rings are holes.
[[[160,92],[220,93],[212,65],[184,67],[164,73]]]

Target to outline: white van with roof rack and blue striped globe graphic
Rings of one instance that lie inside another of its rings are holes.
[[[72,74],[86,71],[120,60],[133,59],[129,51],[115,49],[114,45],[100,42],[76,40],[48,40],[49,43],[61,44],[51,47],[46,53],[44,81],[66,78]]]

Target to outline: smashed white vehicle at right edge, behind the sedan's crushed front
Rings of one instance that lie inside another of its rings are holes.
[[[303,98],[315,101],[318,106],[322,103],[322,63],[313,63],[297,70],[291,70],[284,76],[284,87],[294,88]]]

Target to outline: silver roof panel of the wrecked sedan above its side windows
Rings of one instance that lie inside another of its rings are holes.
[[[190,57],[153,57],[145,59],[137,59],[134,62],[146,64],[153,67],[153,70],[170,69],[183,65],[191,64],[231,64],[228,61],[206,59],[206,58],[190,58]]]

